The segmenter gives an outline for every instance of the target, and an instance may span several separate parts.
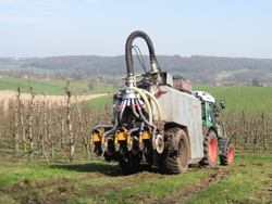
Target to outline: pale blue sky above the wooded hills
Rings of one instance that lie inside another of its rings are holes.
[[[135,30],[157,55],[272,59],[272,1],[0,0],[0,58],[123,55]]]

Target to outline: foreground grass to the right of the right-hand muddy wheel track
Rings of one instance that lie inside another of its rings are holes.
[[[187,203],[272,203],[270,190],[272,156],[236,155],[240,166],[233,168],[228,179],[219,182]],[[269,190],[270,189],[270,190]]]

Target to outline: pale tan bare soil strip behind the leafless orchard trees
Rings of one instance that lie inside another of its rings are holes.
[[[72,97],[71,102],[75,103],[76,101],[87,101],[90,99],[95,99],[98,97],[106,95],[108,93],[101,93],[101,94],[91,94],[91,95],[77,95],[75,98],[74,95]],[[0,91],[0,101],[4,100],[4,105],[8,105],[9,100],[15,100],[17,95],[17,92],[15,91]],[[29,93],[21,93],[21,99],[24,101],[29,101],[32,99],[32,94]],[[44,101],[44,95],[42,94],[36,94],[35,95],[35,101]],[[52,103],[57,102],[58,104],[65,104],[66,103],[66,95],[46,95],[46,101],[50,101]]]

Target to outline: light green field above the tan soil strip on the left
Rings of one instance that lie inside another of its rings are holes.
[[[37,94],[42,94],[44,90],[47,95],[63,95],[65,94],[65,80],[35,80],[32,79],[30,84]],[[22,88],[22,92],[29,93],[28,79],[20,78],[0,78],[0,90],[13,90],[16,91],[17,87]],[[97,93],[107,93],[110,91],[110,88],[107,84],[99,82],[98,89],[89,90],[88,82],[84,81],[71,81],[71,89],[77,94],[85,93],[86,89],[87,94],[97,94]],[[116,91],[116,88],[111,85],[111,91]]]

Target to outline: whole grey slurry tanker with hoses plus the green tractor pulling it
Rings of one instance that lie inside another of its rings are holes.
[[[151,69],[135,75],[132,49],[143,38],[149,49]],[[90,150],[106,161],[118,161],[123,170],[158,166],[163,174],[185,173],[188,165],[231,165],[234,146],[217,124],[215,100],[203,91],[191,91],[182,77],[162,73],[151,39],[132,33],[125,46],[126,88],[113,97],[113,123],[92,128]],[[136,79],[140,77],[140,79]],[[221,101],[224,107],[224,101]]]

